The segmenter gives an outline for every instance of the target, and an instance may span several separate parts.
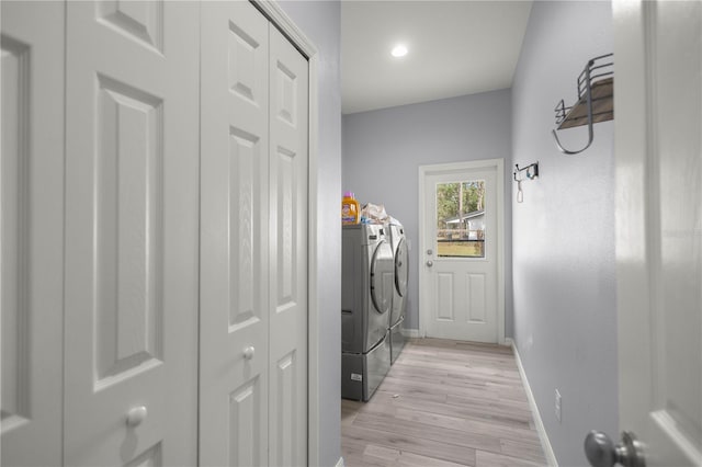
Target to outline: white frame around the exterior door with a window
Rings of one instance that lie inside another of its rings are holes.
[[[431,319],[429,307],[426,301],[429,299],[427,284],[429,278],[423,267],[427,241],[424,235],[424,195],[427,186],[424,180],[427,175],[458,172],[464,170],[492,169],[497,173],[497,343],[505,345],[505,159],[482,159],[465,162],[437,163],[431,166],[419,166],[419,203],[418,203],[418,229],[419,229],[419,253],[417,254],[417,267],[419,271],[419,335],[427,335],[427,322]]]

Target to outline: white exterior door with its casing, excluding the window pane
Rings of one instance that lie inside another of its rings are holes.
[[[505,343],[502,167],[492,159],[419,168],[420,335]],[[474,180],[486,182],[485,258],[439,257],[437,184]]]

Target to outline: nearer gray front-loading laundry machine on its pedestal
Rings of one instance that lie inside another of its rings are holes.
[[[395,265],[383,225],[343,226],[341,397],[369,400],[390,367]]]

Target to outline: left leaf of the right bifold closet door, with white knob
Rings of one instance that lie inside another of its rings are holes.
[[[202,4],[200,463],[268,465],[269,22]]]

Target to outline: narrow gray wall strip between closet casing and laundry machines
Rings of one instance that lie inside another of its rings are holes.
[[[317,179],[317,248],[319,258],[319,465],[333,466],[341,456],[341,91],[339,1],[278,3],[319,50],[319,149]]]

